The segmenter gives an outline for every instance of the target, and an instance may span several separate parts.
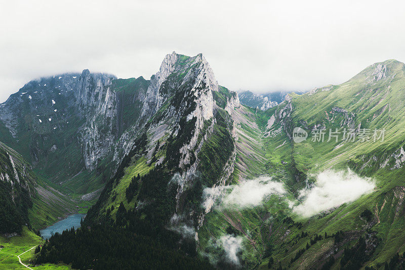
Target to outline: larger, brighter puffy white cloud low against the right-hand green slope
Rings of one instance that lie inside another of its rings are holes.
[[[363,194],[371,192],[375,183],[366,177],[360,177],[350,169],[346,171],[326,170],[316,177],[312,187],[300,191],[303,201],[293,211],[304,217],[350,203]]]

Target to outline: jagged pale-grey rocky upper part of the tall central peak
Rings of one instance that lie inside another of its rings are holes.
[[[191,157],[195,154],[191,154],[191,150],[196,146],[198,134],[204,122],[213,117],[212,91],[217,90],[218,83],[203,55],[168,54],[159,71],[151,78],[142,101],[139,121],[124,132],[115,145],[114,160],[119,162],[120,158],[128,155],[135,146],[134,139],[142,132],[151,134],[148,143],[153,150],[156,141],[164,134],[182,136],[179,134],[184,132],[182,125],[189,125],[187,143],[180,145],[178,166],[190,166],[195,159]]]

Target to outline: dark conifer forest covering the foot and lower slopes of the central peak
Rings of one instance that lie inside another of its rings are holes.
[[[89,209],[87,218],[76,230],[55,234],[44,244],[36,263],[72,263],[79,269],[209,269],[211,264],[197,258],[193,239],[167,228],[170,213],[175,207],[174,186],[170,175],[156,166],[143,177],[134,177],[127,189],[128,200],[135,193],[150,204],[128,210],[121,203],[115,220],[112,209],[98,217],[100,204],[116,179],[111,179],[100,196],[99,203]],[[143,185],[138,190],[137,181]],[[158,194],[158,196],[156,196]],[[131,195],[131,196],[130,196]],[[141,210],[142,211],[141,211]],[[149,213],[145,216],[143,213]]]

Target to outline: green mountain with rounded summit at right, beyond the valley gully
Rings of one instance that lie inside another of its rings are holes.
[[[286,156],[287,153],[300,176],[296,178],[298,182],[291,182],[293,190],[316,181],[314,175],[319,172],[345,170],[347,167],[362,176],[372,177],[377,185],[371,194],[352,204],[343,204],[310,218],[293,214],[294,221],[302,222],[303,226],[297,227],[293,222],[289,226],[280,225],[273,232],[275,252],[272,256],[275,261],[279,259],[289,268],[306,268],[326,263],[327,250],[335,250],[333,252],[337,251],[340,255],[331,262],[333,267],[341,265],[345,268],[351,263],[359,263],[357,265],[380,268],[396,252],[401,254],[405,251],[405,235],[399,233],[405,229],[401,221],[405,185],[402,177],[405,161],[402,155],[405,140],[402,125],[404,97],[405,65],[387,60],[369,66],[341,85],[315,89],[303,95],[293,94],[279,106],[261,114],[264,123],[268,119],[263,131],[271,152],[269,158]],[[292,140],[295,127],[308,133],[306,140],[298,143]],[[323,141],[316,135],[320,129],[325,131]],[[337,141],[335,137],[329,138],[331,130],[335,132],[336,129],[336,134],[339,134]],[[384,129],[382,140],[379,136]],[[347,139],[349,131],[354,134],[354,140]],[[374,131],[377,131],[375,141]],[[286,143],[280,144],[280,140]],[[307,182],[303,182],[305,178]],[[290,234],[284,237],[287,230]],[[312,235],[310,238],[313,239],[315,234],[327,233],[331,236],[339,231],[342,231],[341,237],[334,236],[334,241],[322,237],[314,247],[305,247],[309,242],[303,237],[305,233]],[[376,236],[378,243],[375,242]],[[361,259],[350,257],[352,255],[347,252],[343,256],[339,253],[343,244],[351,246],[354,252],[364,240],[366,250],[358,251],[363,252]],[[318,252],[319,248],[325,249],[325,252]],[[285,249],[289,250],[288,254],[281,252]],[[264,261],[262,268],[267,268],[267,264],[267,260]]]

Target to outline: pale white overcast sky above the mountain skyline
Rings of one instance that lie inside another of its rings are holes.
[[[405,61],[403,1],[2,1],[0,102],[39,76],[149,79],[203,53],[231,90],[309,90]]]

